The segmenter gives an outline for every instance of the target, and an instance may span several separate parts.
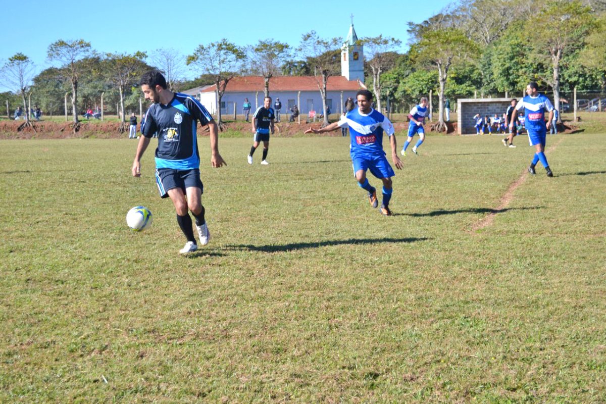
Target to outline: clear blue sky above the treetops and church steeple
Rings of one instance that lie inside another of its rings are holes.
[[[3,1],[5,21],[14,19],[16,24],[4,24],[0,30],[0,61],[21,52],[41,71],[50,66],[46,58],[48,45],[58,39],[82,38],[99,52],[142,50],[148,55],[157,48],[175,48],[189,55],[199,44],[221,38],[237,45],[275,39],[296,46],[301,35],[310,30],[316,30],[322,38],[345,37],[351,14],[359,38],[393,36],[402,41],[404,51],[407,22],[424,21],[448,3],[447,0]]]

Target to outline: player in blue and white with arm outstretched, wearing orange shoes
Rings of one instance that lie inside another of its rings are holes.
[[[358,180],[358,185],[368,192],[370,206],[376,208],[379,205],[376,188],[368,183],[366,171],[370,170],[373,176],[381,179],[383,182],[381,213],[385,216],[391,216],[392,213],[389,208],[389,201],[393,191],[391,177],[396,174],[393,172],[393,168],[391,168],[389,162],[387,162],[387,158],[385,158],[383,133],[385,132],[389,136],[393,164],[398,170],[402,170],[402,161],[398,157],[395,131],[389,119],[370,107],[373,101],[373,94],[370,91],[358,91],[356,99],[358,99],[358,108],[349,111],[345,116],[341,117],[339,122],[333,122],[321,129],[309,128],[305,133],[324,133],[348,127],[351,138],[351,161],[353,162],[353,172],[356,180]]]

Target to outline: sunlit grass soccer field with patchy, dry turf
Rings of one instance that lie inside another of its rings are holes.
[[[201,139],[188,257],[153,148],[2,141],[0,402],[606,402],[606,136],[549,136],[553,178],[500,139],[429,136],[392,217],[342,137]]]

